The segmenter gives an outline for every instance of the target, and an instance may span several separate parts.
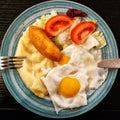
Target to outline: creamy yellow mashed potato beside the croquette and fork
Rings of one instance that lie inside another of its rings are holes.
[[[40,22],[37,20],[34,25],[39,26]],[[43,76],[41,68],[52,68],[53,62],[42,56],[32,45],[28,36],[28,28],[19,40],[15,55],[27,57],[23,67],[18,70],[26,86],[39,97],[47,95],[46,87],[40,79]]]

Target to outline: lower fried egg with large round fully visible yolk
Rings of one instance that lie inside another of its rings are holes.
[[[57,66],[42,78],[57,113],[87,104],[87,78],[85,69],[70,64]]]

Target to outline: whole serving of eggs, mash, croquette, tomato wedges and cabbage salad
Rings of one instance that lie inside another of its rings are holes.
[[[52,11],[19,40],[16,55],[27,57],[18,69],[22,80],[36,96],[49,96],[57,113],[87,105],[88,92],[107,77],[107,69],[97,67],[106,45],[98,27],[95,20]]]

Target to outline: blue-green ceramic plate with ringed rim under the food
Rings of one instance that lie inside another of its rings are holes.
[[[52,9],[59,11],[60,13],[65,13],[69,8],[81,9],[88,14],[88,18],[97,20],[99,29],[103,31],[107,40],[107,46],[102,51],[103,59],[118,58],[118,49],[115,38],[105,21],[90,8],[76,2],[63,0],[43,2],[34,5],[21,13],[10,25],[4,36],[1,55],[14,55],[22,32],[29,25],[34,23],[37,18],[40,18],[41,15],[49,13]],[[33,113],[49,118],[70,118],[91,110],[98,105],[110,91],[110,88],[115,81],[116,74],[117,70],[109,70],[105,83],[93,94],[88,96],[87,106],[72,110],[62,110],[59,115],[57,115],[52,102],[40,99],[33,95],[32,92],[26,88],[16,70],[2,71],[4,82],[17,102]]]

